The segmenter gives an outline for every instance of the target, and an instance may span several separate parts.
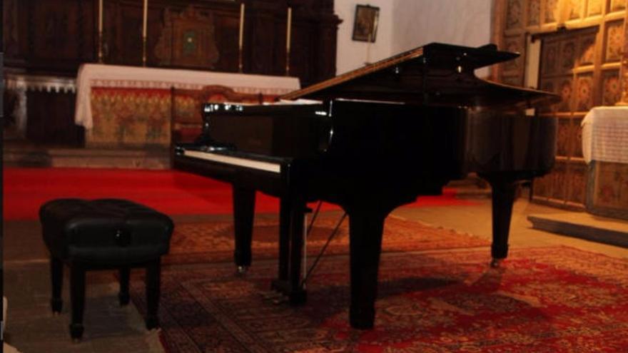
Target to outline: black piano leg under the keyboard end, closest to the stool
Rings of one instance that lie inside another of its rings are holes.
[[[253,235],[253,214],[255,212],[255,190],[233,185],[233,230],[236,237],[236,250],[233,260],[238,272],[246,272],[250,266],[250,243]]]

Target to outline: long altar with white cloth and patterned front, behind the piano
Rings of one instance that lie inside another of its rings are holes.
[[[298,78],[288,76],[86,63],[76,78],[74,122],[85,128],[87,147],[166,147],[171,143],[171,88],[208,85],[269,96],[300,88]]]

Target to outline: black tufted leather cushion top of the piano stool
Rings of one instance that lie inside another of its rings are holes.
[[[166,254],[173,231],[167,215],[121,199],[51,200],[41,205],[39,218],[51,255],[103,265]]]

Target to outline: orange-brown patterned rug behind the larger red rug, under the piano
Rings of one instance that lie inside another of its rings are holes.
[[[308,257],[316,256],[333,232],[338,217],[322,215],[315,220],[308,235]],[[278,220],[255,220],[253,228],[253,262],[278,256]],[[395,216],[386,218],[383,251],[452,249],[489,246],[490,242],[474,235],[461,235],[454,230],[430,227],[420,222]],[[171,239],[166,264],[194,262],[228,262],[233,260],[233,222],[201,222],[177,224]],[[326,255],[348,254],[349,220],[345,218],[325,250]]]

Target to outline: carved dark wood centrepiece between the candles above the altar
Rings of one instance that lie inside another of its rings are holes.
[[[166,9],[163,29],[155,46],[160,65],[214,68],[216,46],[213,13],[188,6],[181,14]]]

